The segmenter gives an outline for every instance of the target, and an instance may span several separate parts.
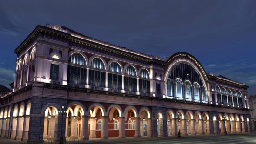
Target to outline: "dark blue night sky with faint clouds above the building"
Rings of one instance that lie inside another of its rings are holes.
[[[160,58],[187,52],[256,95],[256,0],[0,0],[0,84],[14,81],[14,50],[47,23]]]

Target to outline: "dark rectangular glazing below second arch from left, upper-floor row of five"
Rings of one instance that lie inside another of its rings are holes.
[[[106,74],[105,72],[99,72],[89,70],[89,85],[97,87],[105,87]]]

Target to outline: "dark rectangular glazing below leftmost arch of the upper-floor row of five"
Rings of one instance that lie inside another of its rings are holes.
[[[86,85],[86,72],[87,70],[85,68],[68,65],[67,82],[73,84]]]

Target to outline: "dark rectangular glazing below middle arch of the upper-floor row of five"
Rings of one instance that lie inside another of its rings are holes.
[[[108,73],[108,88],[122,89],[122,76],[117,74]]]

